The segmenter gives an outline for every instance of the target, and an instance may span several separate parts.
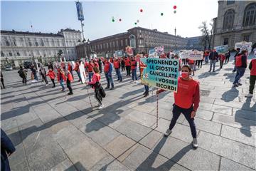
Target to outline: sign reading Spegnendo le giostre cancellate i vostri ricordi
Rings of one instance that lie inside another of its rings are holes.
[[[142,84],[177,92],[178,59],[141,58]]]

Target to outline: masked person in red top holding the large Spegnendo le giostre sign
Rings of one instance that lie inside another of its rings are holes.
[[[174,92],[173,118],[164,135],[169,136],[171,134],[171,130],[174,128],[178,117],[183,113],[191,128],[193,147],[196,148],[198,147],[198,142],[196,138],[194,117],[196,115],[196,110],[199,107],[200,88],[199,82],[190,77],[191,71],[191,68],[187,65],[184,65],[181,68],[181,76],[178,78],[178,90],[176,93]],[[162,91],[164,90],[157,90],[156,93],[159,94]]]

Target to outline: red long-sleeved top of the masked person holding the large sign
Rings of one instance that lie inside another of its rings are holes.
[[[180,108],[190,108],[193,105],[193,109],[198,109],[200,102],[200,89],[199,82],[193,80],[184,81],[181,77],[178,78],[178,90],[174,92],[174,103]]]

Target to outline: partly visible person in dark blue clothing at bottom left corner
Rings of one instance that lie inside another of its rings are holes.
[[[15,152],[14,144],[1,129],[1,171],[11,171],[8,157]]]

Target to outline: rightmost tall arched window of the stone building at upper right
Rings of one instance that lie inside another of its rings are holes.
[[[256,3],[252,3],[245,8],[242,26],[254,26],[255,20],[256,20]]]

